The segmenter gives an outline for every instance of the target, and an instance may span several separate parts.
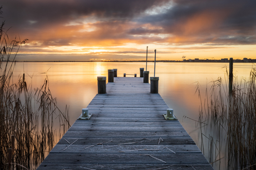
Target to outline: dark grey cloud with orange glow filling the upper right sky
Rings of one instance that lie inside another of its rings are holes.
[[[255,7],[256,1],[179,0],[166,13],[139,22],[160,25],[163,32],[174,35],[174,43],[255,44]]]

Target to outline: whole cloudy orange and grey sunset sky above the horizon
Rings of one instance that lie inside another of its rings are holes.
[[[256,59],[256,1],[2,0],[17,60]]]

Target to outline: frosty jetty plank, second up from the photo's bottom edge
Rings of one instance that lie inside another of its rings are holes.
[[[151,153],[151,156],[157,158],[152,158],[147,154],[139,153],[51,153],[48,154],[48,159],[43,161],[47,162],[58,162],[58,163],[166,163],[171,164],[205,164],[208,161],[205,159],[203,154],[200,153]],[[162,161],[159,161],[162,160]]]

